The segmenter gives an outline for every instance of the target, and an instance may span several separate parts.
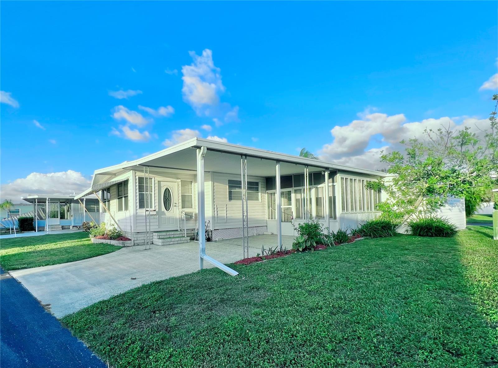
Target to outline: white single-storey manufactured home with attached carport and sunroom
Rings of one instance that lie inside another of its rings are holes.
[[[92,186],[76,199],[98,193],[101,221],[116,224],[134,244],[143,244],[151,233],[151,241],[163,244],[158,234],[167,231],[185,235],[177,242],[189,241],[201,217],[201,195],[202,217],[211,239],[281,236],[294,235],[294,227],[308,219],[337,231],[377,216],[382,195],[366,184],[384,176],[374,170],[194,138],[96,170]]]

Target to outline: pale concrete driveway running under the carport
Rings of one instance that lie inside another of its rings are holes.
[[[289,247],[292,237],[284,237]],[[206,253],[223,263],[242,258],[240,239],[206,243]],[[275,235],[249,238],[249,256],[261,252],[261,245],[274,246]],[[12,271],[14,276],[52,313],[61,318],[100,300],[142,284],[199,270],[197,242],[177,245],[126,247],[102,256],[53,266]],[[266,246],[265,246],[266,247]],[[267,248],[267,247],[266,247]],[[204,262],[206,268],[213,267]],[[222,271],[220,271],[222,272]]]

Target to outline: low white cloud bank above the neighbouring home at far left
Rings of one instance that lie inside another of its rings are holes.
[[[27,194],[64,194],[81,193],[90,186],[90,180],[73,170],[60,173],[31,173],[26,178],[16,179],[9,184],[1,184],[1,200],[11,199],[21,202]]]

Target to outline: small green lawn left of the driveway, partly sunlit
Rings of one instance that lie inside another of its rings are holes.
[[[90,241],[88,233],[73,232],[0,240],[0,266],[5,271],[79,261],[120,249]]]

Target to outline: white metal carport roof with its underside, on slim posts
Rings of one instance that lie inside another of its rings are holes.
[[[281,163],[281,175],[297,174],[309,167],[310,172],[322,170],[340,170],[354,173],[385,177],[386,174],[369,169],[359,169],[345,165],[337,165],[321,160],[288,155],[252,147],[233,145],[225,142],[192,138],[186,142],[166,148],[154,154],[133,161],[109,166],[95,171],[92,187],[115,180],[128,170],[142,170],[148,166],[151,171],[160,169],[196,170],[196,148],[206,147],[205,170],[227,174],[240,174],[240,156],[248,157],[248,175],[269,177],[275,175],[275,161]],[[235,158],[238,157],[238,158]],[[235,158],[235,159],[234,159]],[[84,195],[85,192],[76,197]]]

